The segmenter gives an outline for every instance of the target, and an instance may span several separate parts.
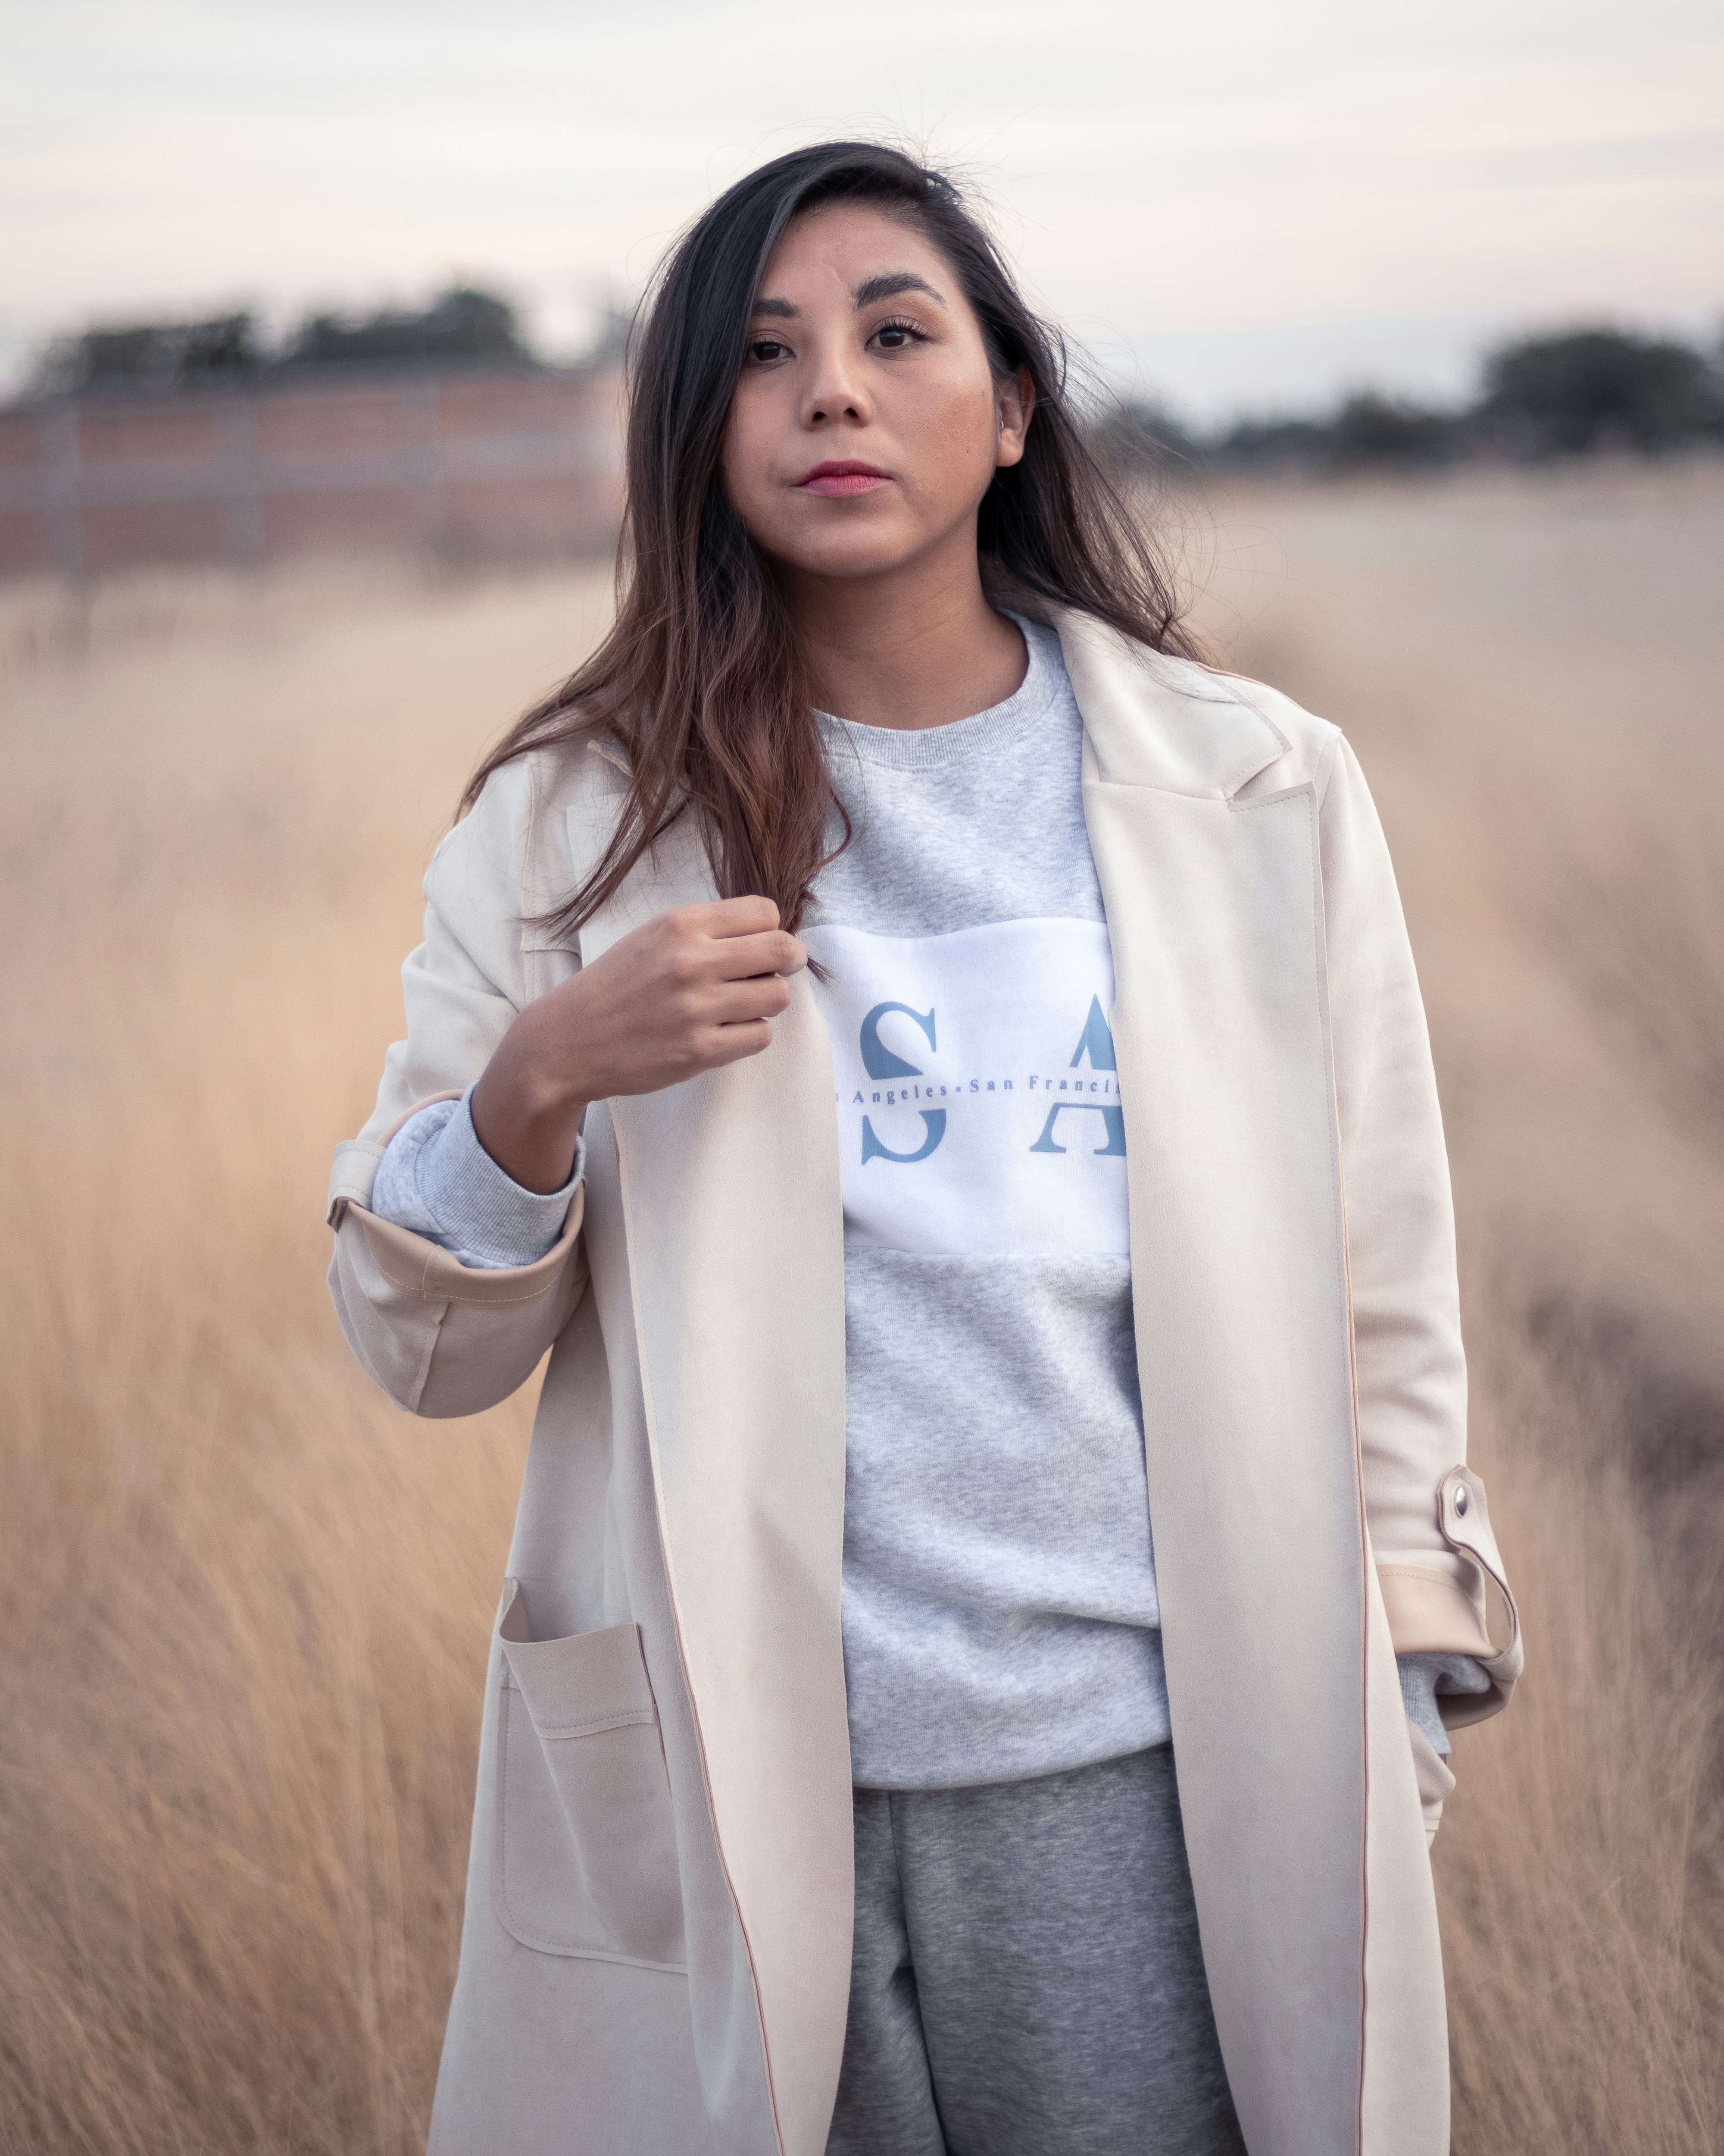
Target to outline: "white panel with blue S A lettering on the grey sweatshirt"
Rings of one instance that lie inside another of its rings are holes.
[[[802,940],[830,975],[847,1246],[1129,1255],[1103,923]]]

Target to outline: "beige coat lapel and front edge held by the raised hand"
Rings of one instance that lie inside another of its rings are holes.
[[[582,826],[597,815],[595,830]],[[595,858],[614,800],[571,811]],[[582,929],[590,964],[713,899],[685,817]],[[612,1100],[664,1559],[784,2156],[819,2156],[849,1999],[838,1615],[845,1253],[832,1052],[806,977],[759,1056]]]

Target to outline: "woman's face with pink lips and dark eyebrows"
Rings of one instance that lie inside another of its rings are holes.
[[[834,203],[795,218],[767,263],[724,483],[787,569],[890,573],[974,545],[1030,403],[1028,375],[993,379],[950,263],[914,226]]]

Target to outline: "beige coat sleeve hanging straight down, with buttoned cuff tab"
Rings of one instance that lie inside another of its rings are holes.
[[[1321,854],[1366,1526],[1396,1654],[1465,1654],[1491,1680],[1489,1692],[1440,1695],[1459,1727],[1506,1703],[1519,1619],[1485,1485],[1465,1468],[1455,1210],[1424,1005],[1345,740],[1327,759]]]

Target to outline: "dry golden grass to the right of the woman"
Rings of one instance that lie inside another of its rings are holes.
[[[1455,1162],[1528,1632],[1435,1846],[1461,2156],[1724,2145],[1724,466],[1218,505],[1211,634],[1347,727]]]

